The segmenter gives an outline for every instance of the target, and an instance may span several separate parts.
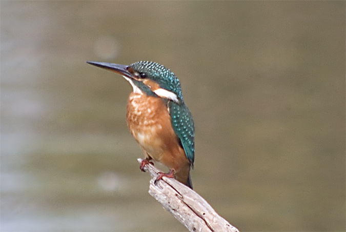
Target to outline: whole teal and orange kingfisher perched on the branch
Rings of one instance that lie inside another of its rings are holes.
[[[190,169],[195,157],[194,123],[182,98],[180,82],[163,65],[139,61],[131,65],[87,61],[88,64],[122,75],[133,91],[127,103],[126,119],[132,136],[144,152],[139,168],[153,161],[164,164],[175,178],[192,189]]]

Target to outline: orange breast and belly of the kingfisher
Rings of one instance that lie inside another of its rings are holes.
[[[190,162],[173,130],[164,100],[132,92],[127,105],[127,123],[146,157],[174,169],[176,173],[184,172],[184,176],[187,172],[188,176]]]

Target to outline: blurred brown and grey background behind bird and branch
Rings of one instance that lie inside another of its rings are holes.
[[[240,231],[345,231],[344,1],[1,1],[1,230],[186,231],[148,194],[131,86],[160,63],[194,189]]]

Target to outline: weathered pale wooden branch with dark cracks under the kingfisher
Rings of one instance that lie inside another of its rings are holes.
[[[138,159],[139,163],[141,161]],[[146,165],[145,170],[149,171],[152,177],[149,194],[190,231],[239,232],[236,227],[220,217],[194,190],[173,178],[164,177],[154,184],[160,170],[151,164]]]

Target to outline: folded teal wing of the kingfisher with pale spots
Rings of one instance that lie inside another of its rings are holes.
[[[195,127],[189,108],[184,104],[169,101],[172,126],[185,150],[191,166],[195,159]]]

